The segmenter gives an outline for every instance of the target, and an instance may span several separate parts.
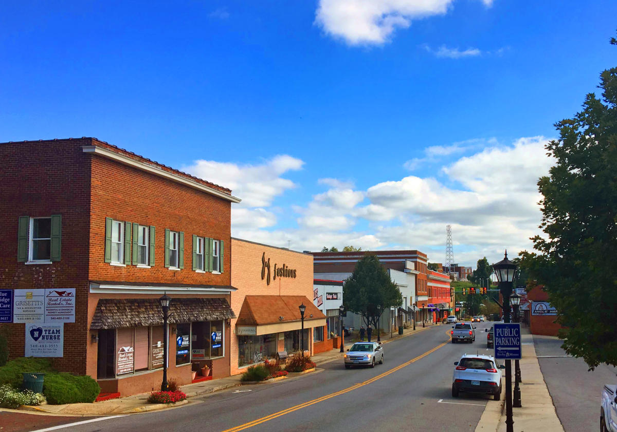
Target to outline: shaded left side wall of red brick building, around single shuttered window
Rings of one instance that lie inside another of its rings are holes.
[[[88,305],[89,140],[0,144],[0,288],[76,288],[75,323],[64,325],[60,370],[86,372]],[[17,263],[19,216],[62,215],[62,259]],[[23,357],[25,324],[2,324],[10,358]]]

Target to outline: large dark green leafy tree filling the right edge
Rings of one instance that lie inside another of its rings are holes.
[[[601,97],[587,94],[581,112],[555,123],[546,149],[557,163],[538,181],[545,235],[532,238],[537,253],[520,254],[565,326],[562,347],[591,370],[617,365],[617,67],[598,88]]]

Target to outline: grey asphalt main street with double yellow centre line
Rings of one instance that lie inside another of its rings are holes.
[[[262,385],[241,386],[191,399],[172,410],[71,426],[93,431],[474,431],[489,396],[452,398],[453,362],[463,353],[486,353],[480,323],[473,344],[452,344],[449,325],[384,344],[383,365],[320,371]],[[447,334],[448,333],[448,334]],[[385,339],[384,339],[385,340]],[[492,350],[491,350],[492,351]],[[250,391],[248,391],[250,390]]]

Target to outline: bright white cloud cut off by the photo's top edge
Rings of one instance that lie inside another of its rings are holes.
[[[491,6],[492,0],[482,0]],[[443,15],[453,0],[320,0],[315,23],[350,45],[383,44],[412,20]]]

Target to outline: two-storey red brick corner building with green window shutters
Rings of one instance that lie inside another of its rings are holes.
[[[239,199],[229,189],[94,138],[2,143],[0,160],[0,290],[75,298],[52,357],[58,370],[90,375],[104,392],[150,391],[160,388],[168,347],[168,377],[180,384],[193,372],[230,374],[230,221]],[[2,324],[10,358],[30,349],[38,319]]]

